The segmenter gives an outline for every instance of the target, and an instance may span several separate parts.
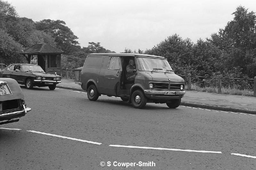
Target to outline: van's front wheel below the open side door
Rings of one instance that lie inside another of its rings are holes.
[[[141,90],[135,90],[132,93],[132,106],[136,109],[142,109],[147,104],[147,97]]]

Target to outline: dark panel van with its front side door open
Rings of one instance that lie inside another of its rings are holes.
[[[79,85],[91,101],[100,95],[116,96],[134,108],[147,103],[177,108],[185,94],[184,80],[173,72],[166,58],[137,53],[88,54]]]

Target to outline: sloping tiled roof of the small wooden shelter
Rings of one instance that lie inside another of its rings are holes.
[[[52,54],[52,53],[56,54],[56,53],[64,53],[64,52],[49,44],[37,43],[31,47],[28,47],[26,50],[24,50],[20,54]]]

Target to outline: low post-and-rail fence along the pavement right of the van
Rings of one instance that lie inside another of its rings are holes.
[[[188,77],[187,90],[191,90],[191,77],[218,79],[218,93],[221,93],[221,87],[222,87],[221,79],[253,81],[253,96],[256,96],[256,76],[254,77],[254,79],[241,79],[241,78],[226,78],[226,77],[221,77],[221,75],[219,75],[218,77],[192,76],[190,73],[188,75],[181,75],[181,74],[178,74],[178,75],[181,77]]]

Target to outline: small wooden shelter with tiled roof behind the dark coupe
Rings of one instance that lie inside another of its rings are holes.
[[[38,65],[43,68],[45,73],[58,74],[61,76],[61,54],[63,51],[47,44],[37,43],[31,47],[28,47],[20,54],[26,56],[28,61],[32,58],[31,56],[37,55]]]

